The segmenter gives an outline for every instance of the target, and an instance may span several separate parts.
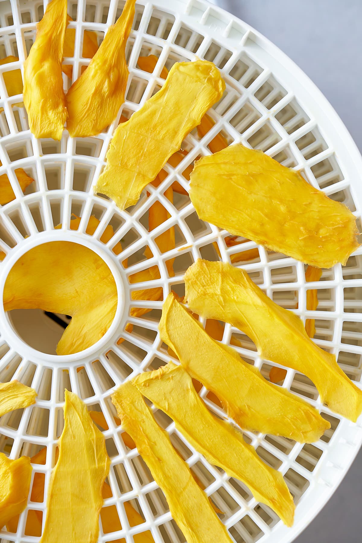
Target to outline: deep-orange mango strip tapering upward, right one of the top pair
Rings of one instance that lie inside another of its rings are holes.
[[[131,32],[135,0],[127,0],[89,66],[67,92],[67,129],[72,137],[100,134],[111,124],[125,100],[128,80],[125,49]]]

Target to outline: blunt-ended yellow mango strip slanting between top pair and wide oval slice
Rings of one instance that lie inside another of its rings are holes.
[[[163,87],[129,121],[118,125],[95,192],[112,198],[121,210],[136,204],[224,89],[220,72],[211,62],[174,64]]]

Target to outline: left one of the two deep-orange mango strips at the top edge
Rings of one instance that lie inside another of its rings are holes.
[[[61,140],[67,120],[62,59],[67,27],[67,0],[52,0],[37,24],[36,39],[24,62],[23,100],[30,131]]]

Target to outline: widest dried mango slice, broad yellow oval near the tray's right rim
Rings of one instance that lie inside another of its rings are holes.
[[[201,219],[311,266],[345,264],[359,247],[355,218],[344,204],[242,144],[196,163],[190,198]]]

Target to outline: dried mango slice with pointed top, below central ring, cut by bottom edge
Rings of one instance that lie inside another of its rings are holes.
[[[102,487],[109,463],[104,436],[94,426],[85,403],[66,390],[64,429],[59,458],[51,472],[42,543],[98,541]]]

